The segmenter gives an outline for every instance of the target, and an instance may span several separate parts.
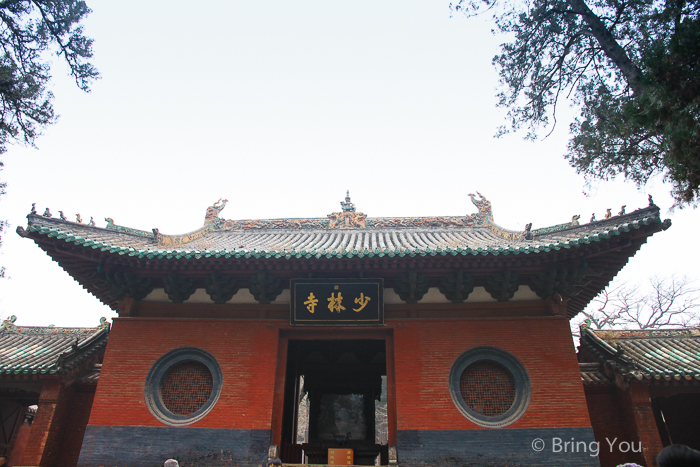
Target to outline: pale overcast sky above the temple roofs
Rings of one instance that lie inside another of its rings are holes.
[[[37,149],[11,147],[2,179],[0,313],[17,324],[95,326],[114,313],[33,242],[32,203],[71,220],[165,234],[226,219],[325,217],[349,189],[370,217],[465,215],[481,192],[509,229],[647,205],[673,220],[620,275],[697,278],[698,213],[669,212],[661,181],[584,191],[566,163],[568,119],[545,140],[494,139],[503,36],[447,1],[94,1],[85,23],[102,79],[85,94],[53,68],[61,115]]]

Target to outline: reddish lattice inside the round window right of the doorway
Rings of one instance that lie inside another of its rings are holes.
[[[482,360],[464,369],[459,392],[474,412],[493,417],[506,413],[515,402],[515,381],[501,365]]]

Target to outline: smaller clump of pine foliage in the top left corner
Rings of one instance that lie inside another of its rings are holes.
[[[84,91],[98,77],[87,61],[92,39],[80,25],[89,13],[80,0],[0,1],[0,154],[11,142],[33,145],[41,129],[56,120],[46,52],[68,64]]]

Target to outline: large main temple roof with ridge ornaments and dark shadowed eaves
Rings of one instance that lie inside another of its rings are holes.
[[[508,297],[514,283],[530,286],[543,299],[561,294],[573,317],[647,237],[670,226],[650,204],[583,225],[574,216],[571,222],[515,231],[494,223],[488,200],[472,196],[472,202],[478,212],[467,216],[369,218],[348,196],[342,211],[326,219],[244,221],[218,217],[225,202],[217,202],[201,228],[183,235],[122,227],[111,218],[100,228],[57,219],[48,209],[39,215],[33,208],[27,228],[17,232],[115,310],[120,300],[147,295],[149,288],[206,288],[212,274],[250,288],[259,272],[280,284],[316,269],[337,277],[368,273],[396,289],[405,274],[420,272],[428,287],[439,288],[446,274],[467,271],[475,286],[491,287],[494,298]]]

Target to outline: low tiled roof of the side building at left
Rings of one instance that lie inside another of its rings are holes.
[[[0,325],[0,374],[55,374],[70,371],[107,343],[109,324],[95,328]]]

